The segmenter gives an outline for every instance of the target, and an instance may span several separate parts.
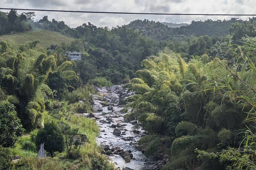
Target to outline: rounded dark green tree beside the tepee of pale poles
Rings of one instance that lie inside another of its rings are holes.
[[[46,123],[44,128],[38,131],[36,136],[36,146],[44,143],[44,149],[51,154],[53,152],[64,151],[64,137],[60,131],[60,128],[55,123]]]

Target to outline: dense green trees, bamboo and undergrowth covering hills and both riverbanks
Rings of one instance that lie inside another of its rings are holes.
[[[108,29],[33,17],[0,12],[0,34],[14,32],[0,37],[0,169],[114,169],[97,148],[95,121],[73,114],[92,112],[93,85],[120,83],[136,93],[125,119],[148,131],[139,141],[146,156],[170,158],[166,170],[255,169],[255,18]],[[13,38],[23,35],[32,38]],[[41,143],[52,158],[34,158]],[[10,155],[22,159],[11,164]]]

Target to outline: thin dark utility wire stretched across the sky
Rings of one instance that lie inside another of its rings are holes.
[[[205,16],[256,16],[256,14],[133,13],[133,12],[104,12],[104,11],[43,10],[43,9],[23,9],[23,8],[0,8],[0,10],[49,11],[49,12],[97,13],[97,14],[205,15]]]

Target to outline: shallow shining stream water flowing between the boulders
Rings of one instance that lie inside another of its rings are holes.
[[[108,111],[108,107],[103,107],[103,111],[96,111],[95,113],[101,117],[101,119],[97,120],[97,123],[101,129],[102,132],[99,133],[97,140],[97,143],[100,144],[106,144],[109,145],[110,149],[114,146],[120,146],[124,151],[131,151],[133,158],[130,160],[129,163],[126,163],[125,160],[119,155],[119,154],[111,154],[109,155],[109,158],[117,164],[117,167],[122,168],[129,167],[134,170],[141,170],[144,167],[145,163],[145,155],[142,154],[141,151],[138,151],[135,146],[134,142],[138,141],[140,137],[142,136],[143,130],[139,129],[140,133],[134,133],[133,132],[133,125],[131,123],[125,123],[123,119],[123,114],[120,113],[119,116],[116,118],[112,118],[112,123],[102,123],[100,120],[106,120],[106,118],[109,115],[112,115],[112,111]],[[113,110],[120,109],[117,107],[113,107]],[[122,108],[121,108],[122,109]],[[110,126],[112,124],[120,123],[122,127],[124,128],[123,133],[121,135],[114,135],[113,130],[114,128],[111,128]],[[125,132],[125,133],[124,133]],[[126,137],[133,137],[133,140],[130,141],[124,141],[124,138]]]

